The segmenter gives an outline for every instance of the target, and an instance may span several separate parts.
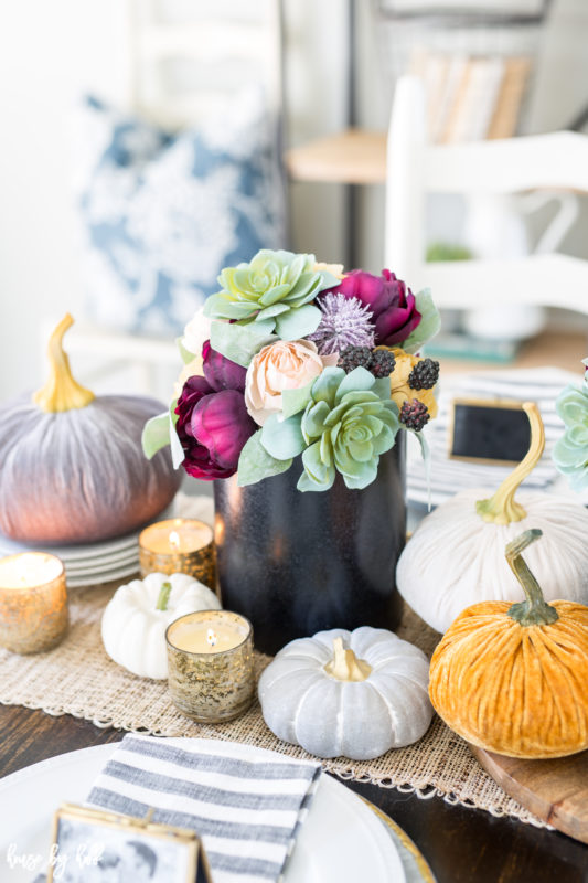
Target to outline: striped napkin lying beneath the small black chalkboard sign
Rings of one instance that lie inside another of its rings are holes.
[[[498,488],[512,472],[511,466],[478,466],[451,460],[449,448],[449,414],[453,398],[511,398],[520,402],[536,402],[545,425],[545,453],[524,487],[546,490],[557,479],[558,472],[552,461],[552,451],[564,432],[564,424],[555,413],[555,400],[568,383],[577,383],[581,376],[555,368],[536,368],[518,371],[493,371],[450,377],[439,396],[439,416],[425,429],[431,450],[430,490],[432,506],[439,506],[455,493],[467,488]],[[428,485],[419,453],[409,454],[406,476],[409,502],[427,504]]]

